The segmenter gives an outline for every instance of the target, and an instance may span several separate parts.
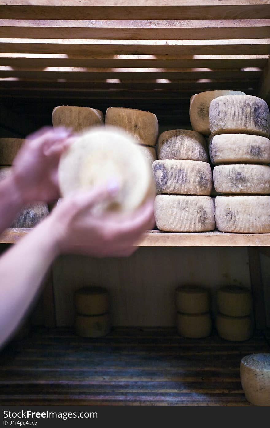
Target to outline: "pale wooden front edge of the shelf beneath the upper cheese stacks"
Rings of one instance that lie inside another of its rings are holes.
[[[0,235],[1,244],[16,244],[32,229],[6,229]],[[167,233],[146,232],[139,247],[270,247],[270,233]]]

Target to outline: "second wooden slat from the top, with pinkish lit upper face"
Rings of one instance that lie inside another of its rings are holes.
[[[269,19],[187,21],[0,20],[0,37],[46,39],[265,39]]]

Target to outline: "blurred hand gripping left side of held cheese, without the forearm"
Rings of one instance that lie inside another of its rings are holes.
[[[12,166],[15,188],[23,204],[59,197],[58,163],[69,145],[70,134],[64,127],[45,127],[26,137]]]

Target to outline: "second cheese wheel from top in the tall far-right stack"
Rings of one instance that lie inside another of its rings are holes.
[[[211,162],[270,163],[270,140],[249,134],[221,134],[209,139]]]

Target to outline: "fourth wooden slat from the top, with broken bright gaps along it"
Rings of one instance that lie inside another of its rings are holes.
[[[269,55],[113,55],[67,56],[66,54],[0,53],[0,65],[12,68],[264,68]]]

